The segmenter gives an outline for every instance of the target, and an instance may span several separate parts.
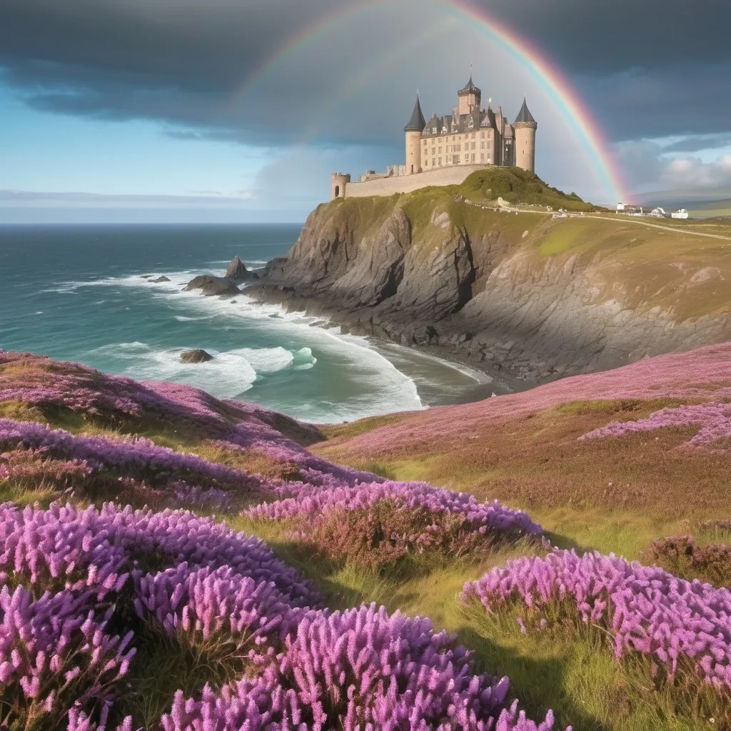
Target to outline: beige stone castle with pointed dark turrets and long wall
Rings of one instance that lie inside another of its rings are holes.
[[[333,173],[330,200],[452,185],[488,165],[535,172],[538,125],[526,99],[512,124],[503,116],[501,107],[493,112],[492,99],[488,99],[486,109],[482,108],[482,91],[471,76],[457,92],[457,100],[451,114],[439,117],[435,112],[427,122],[417,94],[414,111],[404,127],[406,164],[392,165],[385,173],[369,170],[357,182],[351,181],[349,173]]]

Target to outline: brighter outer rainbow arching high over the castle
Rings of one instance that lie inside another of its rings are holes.
[[[556,105],[558,113],[561,113],[567,120],[607,195],[607,200],[627,200],[629,196],[624,185],[624,176],[616,164],[601,127],[556,64],[537,48],[529,46],[515,31],[493,17],[490,12],[482,7],[477,7],[470,0],[432,0],[432,2],[444,7],[458,20],[475,23],[480,31],[529,72],[542,91]],[[336,23],[349,18],[356,12],[371,10],[379,6],[393,7],[393,0],[361,0],[356,4],[349,4],[334,10],[298,31],[246,78],[243,86],[235,91],[232,101],[246,96],[279,64],[294,56],[306,43],[327,34]]]

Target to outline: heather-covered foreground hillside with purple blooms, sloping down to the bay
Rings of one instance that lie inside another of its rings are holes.
[[[320,431],[0,352],[2,724],[727,729],[730,383],[711,346]]]

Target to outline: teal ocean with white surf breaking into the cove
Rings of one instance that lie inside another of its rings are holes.
[[[0,227],[0,349],[184,382],[315,423],[459,401],[490,382],[245,294],[182,291],[198,274],[221,276],[235,254],[261,267],[298,232],[284,224]],[[181,363],[189,348],[213,360]]]

